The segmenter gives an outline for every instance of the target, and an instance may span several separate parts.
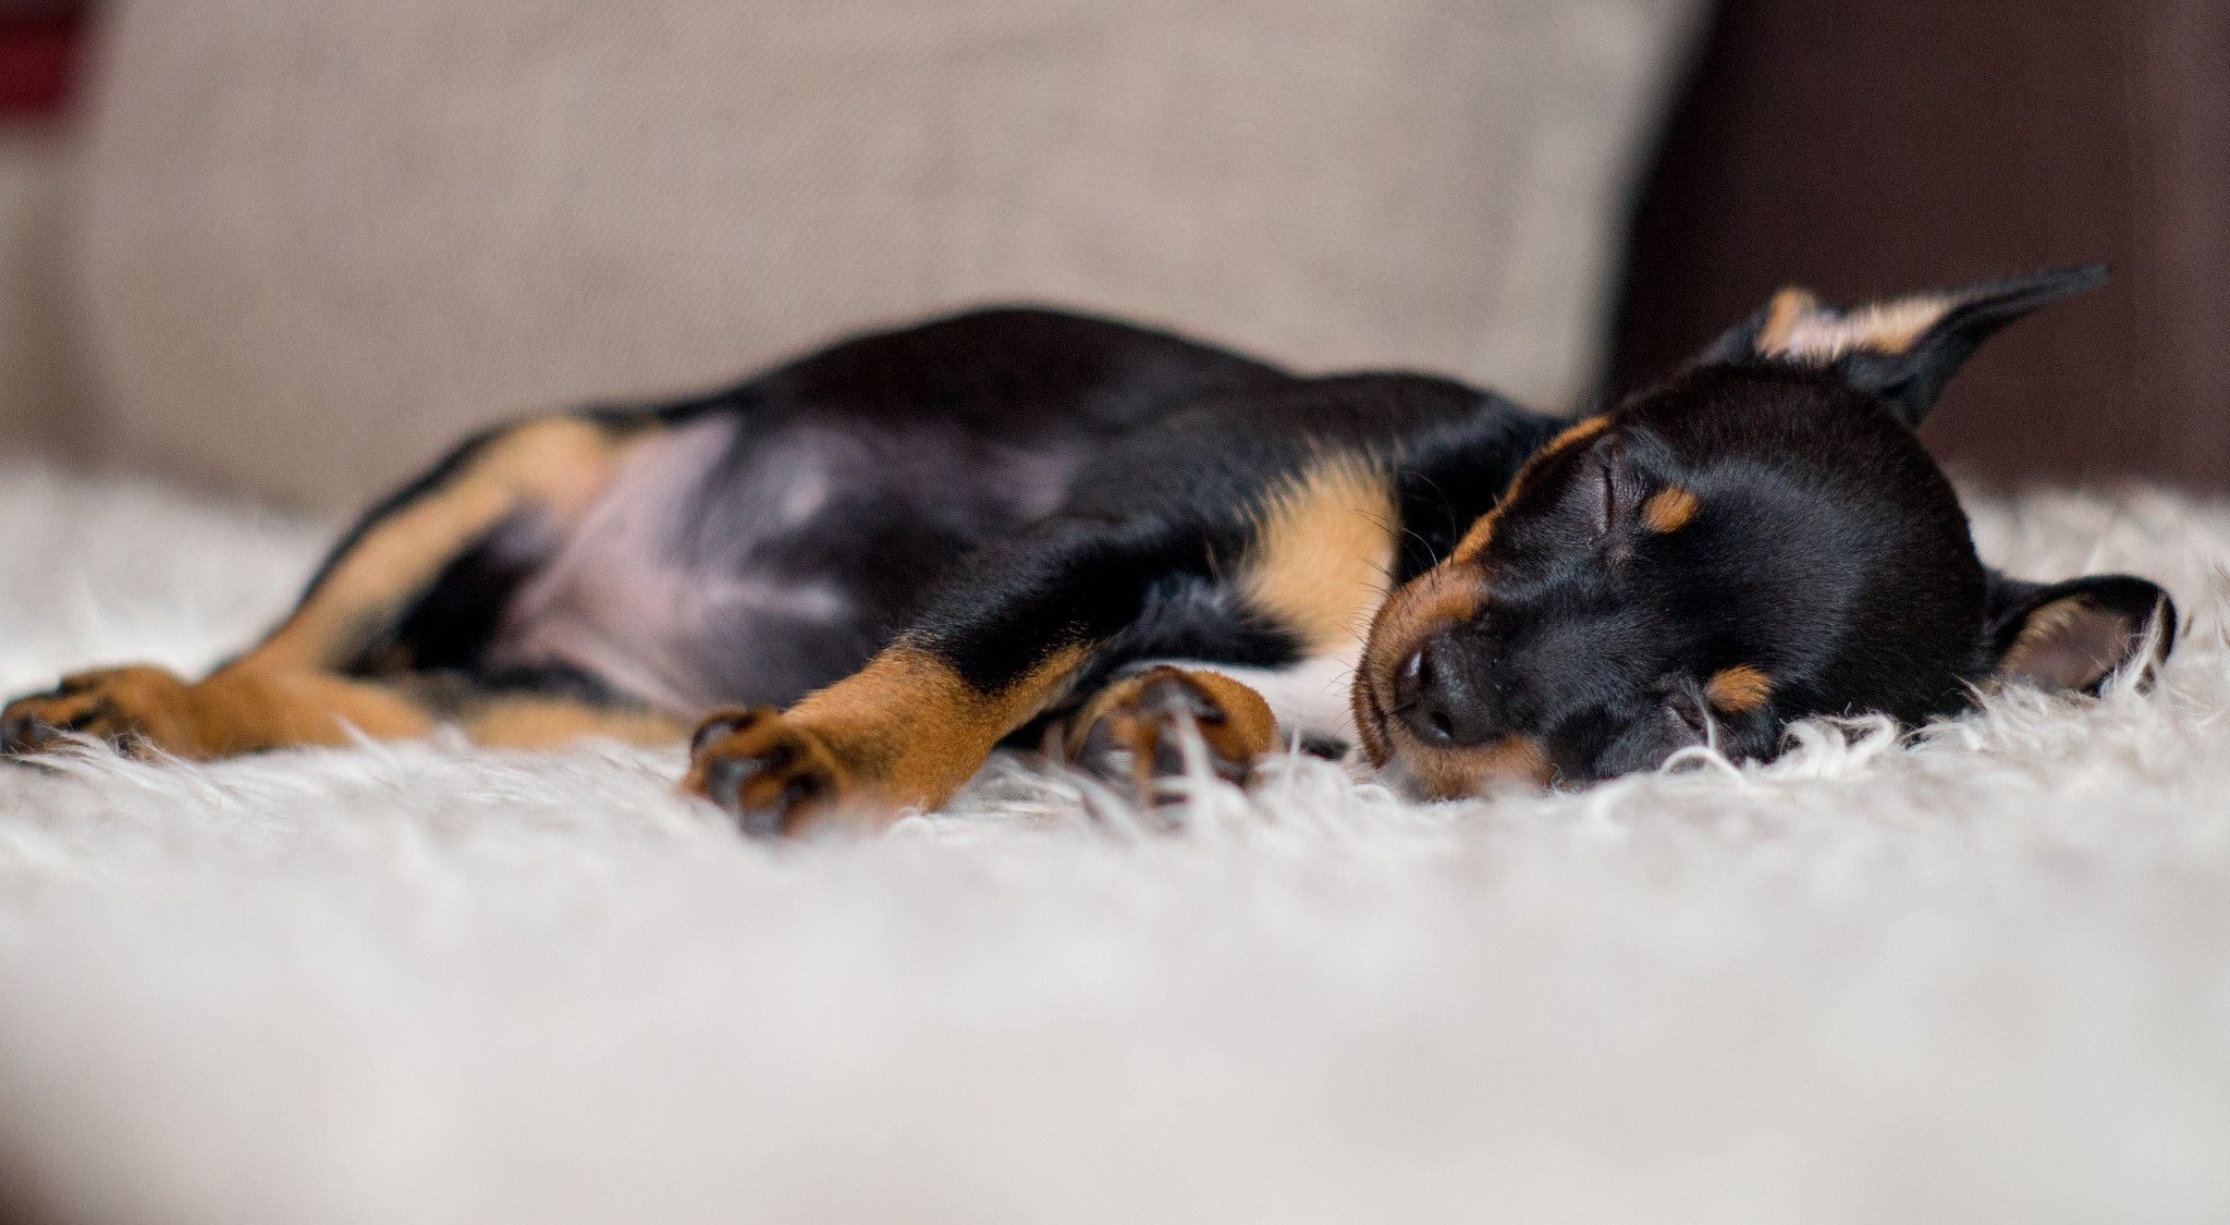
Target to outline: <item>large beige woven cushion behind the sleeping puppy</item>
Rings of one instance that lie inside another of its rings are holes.
[[[531,408],[992,299],[1545,406],[1697,0],[145,0],[78,274],[116,455],[350,504]]]

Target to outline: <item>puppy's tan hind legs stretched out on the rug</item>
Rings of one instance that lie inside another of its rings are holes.
[[[682,723],[640,707],[486,692],[471,672],[426,672],[404,634],[430,594],[448,596],[437,634],[486,634],[502,596],[613,482],[649,417],[540,417],[459,446],[390,498],[334,549],[297,609],[263,643],[187,683],[158,667],[65,678],[0,712],[0,750],[40,752],[60,732],[214,759],[283,745],[339,745],[350,730],[415,736],[455,718],[482,743],[537,745],[582,734],[680,739]]]

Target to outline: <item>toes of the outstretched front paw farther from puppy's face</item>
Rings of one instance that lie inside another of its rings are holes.
[[[707,718],[689,739],[682,790],[725,808],[752,837],[796,835],[847,792],[827,745],[767,705]]]

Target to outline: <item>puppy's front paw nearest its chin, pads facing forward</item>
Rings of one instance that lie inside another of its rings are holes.
[[[1184,774],[1184,721],[1200,732],[1209,768],[1226,783],[1244,783],[1253,759],[1278,736],[1262,694],[1215,672],[1164,665],[1108,685],[1084,710],[1068,756],[1140,803],[1153,803],[1155,779]]]

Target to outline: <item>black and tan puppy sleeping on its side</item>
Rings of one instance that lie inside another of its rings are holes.
[[[1911,725],[1991,678],[2096,689],[2165,656],[2168,598],[1985,569],[1913,428],[1987,335],[2101,281],[1851,312],[1786,290],[1579,424],[1436,377],[961,315],[475,437],[252,652],[198,683],[71,676],[0,736],[210,759],[698,723],[687,785],[794,832],[937,806],[1055,725],[1140,788],[1193,718],[1226,777],[1284,727],[1463,797],[1697,743],[1771,756],[1809,714]]]

